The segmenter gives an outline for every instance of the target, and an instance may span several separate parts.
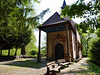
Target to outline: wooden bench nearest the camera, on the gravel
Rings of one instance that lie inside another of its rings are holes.
[[[61,66],[55,64],[55,61],[47,63],[47,75],[52,72],[53,75],[56,75],[56,72],[60,73]]]

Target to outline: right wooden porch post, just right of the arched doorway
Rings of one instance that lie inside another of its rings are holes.
[[[69,50],[69,30],[68,30],[68,24],[65,24],[66,26],[66,40],[67,40],[67,60],[71,62],[71,55]]]

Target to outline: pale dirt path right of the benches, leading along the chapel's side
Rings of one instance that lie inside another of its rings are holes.
[[[73,65],[69,65],[68,68],[62,69],[60,74],[57,75],[83,75],[87,71],[87,66],[89,66],[86,61],[88,58],[83,58]]]

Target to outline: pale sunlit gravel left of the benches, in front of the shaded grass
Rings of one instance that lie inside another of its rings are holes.
[[[16,68],[12,70],[6,70],[0,73],[0,75],[44,75],[46,73],[46,67],[41,69],[35,68]]]

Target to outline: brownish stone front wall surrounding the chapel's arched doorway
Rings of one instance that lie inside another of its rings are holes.
[[[64,58],[67,54],[66,31],[48,33],[48,58],[55,60],[55,46],[62,44],[64,47]]]

